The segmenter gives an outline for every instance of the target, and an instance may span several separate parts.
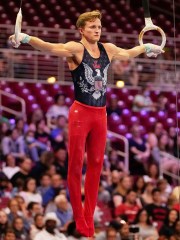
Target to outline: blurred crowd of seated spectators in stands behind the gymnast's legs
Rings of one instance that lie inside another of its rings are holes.
[[[54,100],[46,113],[37,108],[29,119],[1,116],[0,240],[85,239],[75,230],[67,188],[69,109],[64,94]],[[143,104],[136,96],[132,110],[157,108]],[[109,105],[107,113],[120,115],[121,109]],[[179,240],[180,186],[163,173],[179,172],[176,129],[156,122],[145,135],[135,123],[128,140],[129,172],[119,149],[107,141],[94,239]],[[85,155],[82,202],[86,163]]]

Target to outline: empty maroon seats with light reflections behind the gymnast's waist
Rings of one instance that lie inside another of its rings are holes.
[[[0,88],[9,93],[16,94],[22,97],[27,104],[27,114],[30,115],[34,108],[40,106],[43,111],[53,104],[53,98],[58,92],[64,93],[66,96],[66,105],[70,106],[74,100],[74,90],[72,85],[59,85],[59,84],[41,84],[41,83],[12,83],[1,82]],[[130,133],[131,126],[134,123],[139,123],[142,126],[142,133],[145,134],[151,131],[155,122],[161,122],[164,127],[169,128],[177,125],[177,119],[180,121],[179,107],[176,109],[176,92],[164,92],[164,95],[168,98],[167,111],[157,112],[133,112],[133,99],[138,93],[135,89],[127,88],[108,88],[107,89],[107,106],[111,98],[116,97],[118,99],[118,106],[122,110],[121,115],[113,113],[108,116],[108,128],[111,131],[117,132],[126,136]],[[151,91],[151,97],[153,101],[157,100],[157,91]],[[3,103],[6,103],[8,107],[12,106],[12,100],[7,98]],[[15,102],[13,100],[13,106]],[[177,110],[177,114],[176,114]]]

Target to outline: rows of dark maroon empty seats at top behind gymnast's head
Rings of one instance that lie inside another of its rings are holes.
[[[158,0],[152,1],[154,5],[162,8]],[[106,0],[102,3],[88,0],[80,2],[78,0],[61,1],[50,0],[24,0],[22,4],[23,24],[29,26],[68,28],[74,29],[75,22],[80,13],[99,9],[103,13],[103,25],[109,32],[124,33],[140,32],[144,27],[144,10],[137,3],[127,4],[125,0],[117,2],[116,0]],[[169,9],[173,15],[173,3],[164,3],[163,9]],[[19,10],[19,2],[4,1],[0,3],[0,22],[4,24],[13,24]],[[153,23],[166,30],[168,36],[173,36],[173,19],[165,11],[158,14],[157,10],[152,8]],[[48,19],[48,21],[47,21]],[[179,34],[177,28],[177,34]],[[147,34],[152,34],[149,32]]]

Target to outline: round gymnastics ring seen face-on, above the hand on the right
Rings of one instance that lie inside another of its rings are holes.
[[[146,26],[143,28],[143,30],[139,34],[139,44],[143,45],[143,36],[144,36],[145,32],[150,31],[150,30],[156,30],[162,36],[161,49],[163,49],[166,45],[166,35],[165,35],[164,31],[160,27],[154,25],[151,18],[145,18],[145,25]]]

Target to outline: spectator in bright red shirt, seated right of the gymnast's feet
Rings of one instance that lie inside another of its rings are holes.
[[[129,190],[124,203],[115,208],[115,216],[127,218],[128,223],[133,223],[137,212],[141,207],[137,204],[137,194],[133,190]]]

